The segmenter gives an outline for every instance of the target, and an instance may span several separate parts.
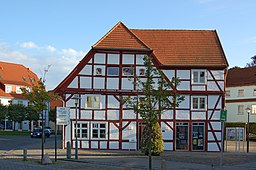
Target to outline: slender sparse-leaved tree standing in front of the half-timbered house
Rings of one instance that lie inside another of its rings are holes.
[[[184,100],[184,96],[180,96],[176,92],[179,81],[173,78],[170,82],[165,79],[161,70],[154,67],[152,57],[144,56],[145,77],[141,79],[135,77],[135,85],[137,96],[128,97],[127,105],[140,114],[143,122],[148,128],[149,142],[149,169],[152,169],[152,131],[153,126],[158,122],[160,115],[173,107],[179,105]],[[171,90],[173,89],[173,90]]]

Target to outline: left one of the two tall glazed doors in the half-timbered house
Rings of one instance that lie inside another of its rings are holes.
[[[176,123],[176,150],[188,150],[188,123]]]

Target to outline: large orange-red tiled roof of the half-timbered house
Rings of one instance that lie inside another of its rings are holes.
[[[119,22],[93,48],[153,50],[165,66],[228,66],[214,30],[128,29]]]

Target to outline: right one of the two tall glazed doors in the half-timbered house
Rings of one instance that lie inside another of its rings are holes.
[[[204,150],[204,123],[192,123],[192,150]]]

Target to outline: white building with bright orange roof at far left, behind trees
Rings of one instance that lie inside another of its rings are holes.
[[[39,81],[37,75],[31,69],[21,64],[0,62],[0,103],[3,105],[23,104],[27,106],[28,100],[22,95],[20,88],[31,87]],[[0,122],[1,129],[29,130],[29,121],[14,123],[12,121]]]

